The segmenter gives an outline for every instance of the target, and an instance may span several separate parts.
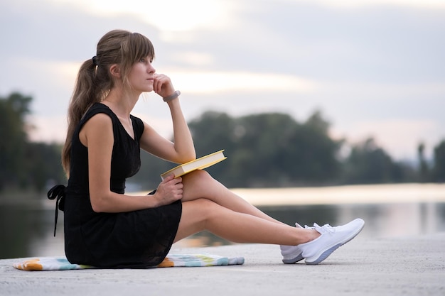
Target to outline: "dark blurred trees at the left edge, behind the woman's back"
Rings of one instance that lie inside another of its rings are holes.
[[[42,191],[48,182],[65,182],[58,144],[28,140],[26,122],[32,97],[14,92],[0,97],[0,192],[5,189]]]

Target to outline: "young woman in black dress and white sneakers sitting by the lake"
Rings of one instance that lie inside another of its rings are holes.
[[[139,170],[140,148],[173,163],[195,159],[195,148],[171,80],[151,65],[154,48],[139,33],[110,31],[80,67],[68,111],[63,167],[68,186],[48,192],[65,215],[71,263],[104,268],[156,266],[171,245],[208,230],[234,242],[282,245],[284,263],[318,264],[353,239],[364,221],[301,228],[272,219],[207,172],[170,176],[144,196],[124,194]],[[131,115],[143,92],[156,92],[173,121],[173,143]]]

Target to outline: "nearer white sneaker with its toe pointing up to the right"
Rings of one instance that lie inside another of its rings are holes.
[[[316,229],[321,236],[318,236],[317,239],[309,241],[308,243],[300,243],[296,247],[301,251],[301,256],[306,258],[306,264],[316,265],[328,258],[337,248],[357,236],[363,229],[363,226],[365,226],[363,219],[355,219],[348,224],[336,227],[332,227],[329,224],[319,226],[314,223],[313,227],[310,228]]]

